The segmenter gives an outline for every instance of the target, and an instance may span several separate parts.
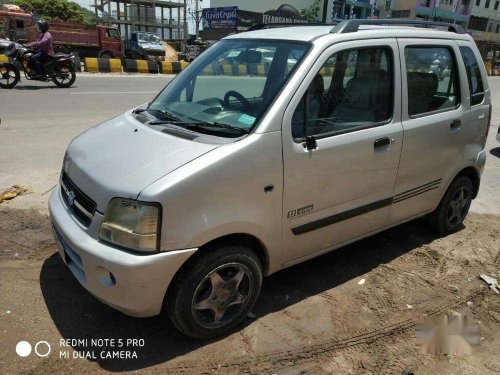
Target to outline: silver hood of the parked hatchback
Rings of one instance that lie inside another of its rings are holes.
[[[217,147],[159,132],[129,112],[76,137],[63,168],[104,212],[111,198],[135,199],[148,185]]]

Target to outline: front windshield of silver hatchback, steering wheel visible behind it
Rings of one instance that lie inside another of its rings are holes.
[[[241,136],[257,124],[309,46],[295,41],[222,40],[194,60],[148,110],[163,113],[179,126],[197,124],[196,131]]]

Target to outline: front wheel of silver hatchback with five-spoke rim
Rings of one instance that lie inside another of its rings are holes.
[[[226,244],[207,249],[174,281],[166,296],[167,313],[186,336],[220,336],[246,318],[261,285],[262,266],[249,248]]]

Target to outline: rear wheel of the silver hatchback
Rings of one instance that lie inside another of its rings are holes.
[[[473,194],[474,188],[470,178],[455,178],[439,206],[428,216],[431,229],[441,234],[451,234],[460,229],[469,212]]]

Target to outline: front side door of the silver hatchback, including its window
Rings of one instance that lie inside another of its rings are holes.
[[[338,43],[285,111],[286,264],[386,225],[402,147],[395,39]]]

